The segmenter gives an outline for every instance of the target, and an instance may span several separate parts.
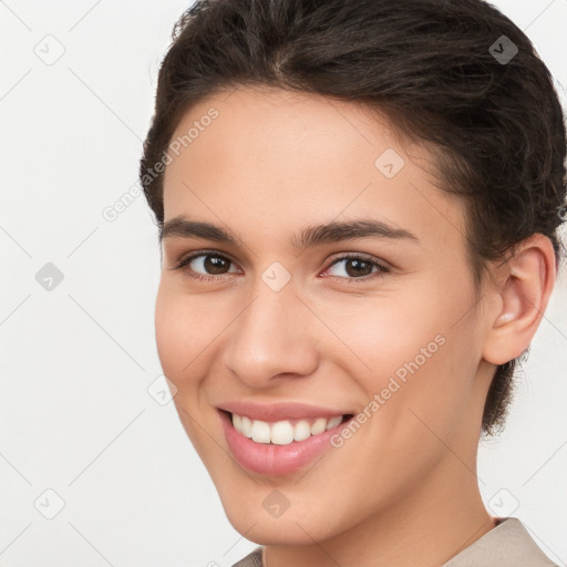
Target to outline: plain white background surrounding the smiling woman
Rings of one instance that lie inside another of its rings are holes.
[[[565,104],[567,0],[495,4],[527,30]],[[102,216],[136,185],[158,64],[187,6],[0,2],[1,567],[229,566],[256,546],[228,524],[173,403],[147,393],[161,374],[150,208],[138,196]],[[63,48],[51,65],[35,53]],[[64,276],[51,291],[35,279],[47,262]],[[561,566],[566,280],[478,472],[493,514],[513,511]],[[64,501],[53,519],[39,512],[56,512],[45,489]]]

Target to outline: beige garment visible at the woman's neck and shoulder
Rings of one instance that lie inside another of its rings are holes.
[[[518,518],[498,518],[498,522],[441,567],[558,567],[539,549]],[[262,567],[261,546],[233,567]]]

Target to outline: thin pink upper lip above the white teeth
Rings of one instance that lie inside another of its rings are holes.
[[[235,401],[217,406],[238,415],[246,415],[251,420],[266,422],[297,420],[301,417],[334,417],[336,415],[350,414],[342,410],[311,405],[302,402],[258,403],[250,401]]]

